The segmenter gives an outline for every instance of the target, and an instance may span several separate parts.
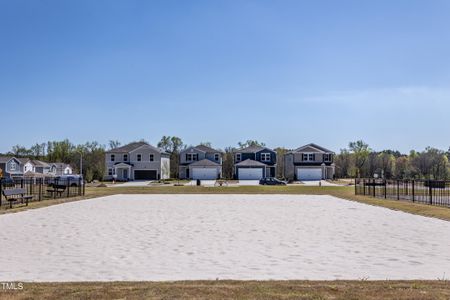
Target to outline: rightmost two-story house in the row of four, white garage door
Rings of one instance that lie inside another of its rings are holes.
[[[288,180],[332,179],[334,171],[334,152],[316,144],[302,146],[284,156],[284,176]]]

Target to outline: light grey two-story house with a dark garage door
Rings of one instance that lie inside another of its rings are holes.
[[[170,177],[170,154],[146,142],[105,153],[106,180],[158,180]]]

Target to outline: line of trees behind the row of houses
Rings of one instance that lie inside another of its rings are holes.
[[[144,141],[145,140],[141,140]],[[201,144],[211,147],[210,142]],[[74,144],[68,139],[37,143],[30,148],[16,145],[7,155],[29,157],[46,162],[63,162],[70,164],[77,173],[83,158],[83,176],[86,180],[102,180],[105,174],[105,152],[117,148],[121,143],[111,140],[108,146],[96,141]],[[163,136],[157,146],[170,153],[170,174],[178,177],[180,152],[188,147],[176,136]],[[239,142],[236,146],[223,149],[222,173],[224,178],[233,178],[233,152],[248,146],[265,146],[257,140]],[[289,149],[278,147],[278,164],[276,175],[284,177],[283,157]],[[374,151],[364,141],[351,142],[348,148],[341,149],[335,156],[336,177],[383,177],[387,179],[450,179],[450,149],[447,151],[428,147],[422,152],[412,150],[402,154],[395,150]]]

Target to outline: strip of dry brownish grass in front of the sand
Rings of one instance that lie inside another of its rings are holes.
[[[450,299],[445,281],[179,281],[25,283],[2,299]]]

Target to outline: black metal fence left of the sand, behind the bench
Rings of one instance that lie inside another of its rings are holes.
[[[5,205],[3,191],[7,189],[24,188],[31,201],[70,198],[84,196],[85,182],[82,178],[46,177],[46,178],[1,178],[0,179],[0,207]]]

